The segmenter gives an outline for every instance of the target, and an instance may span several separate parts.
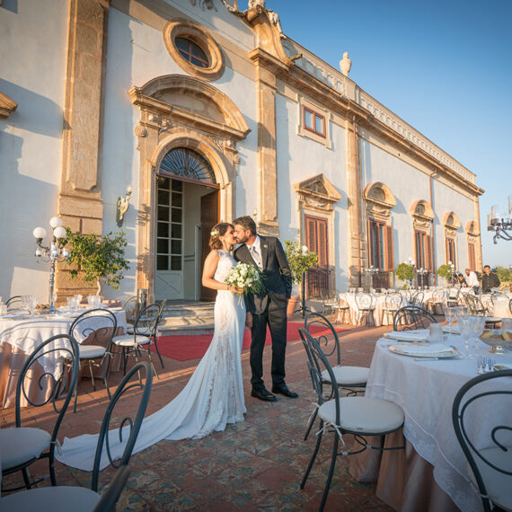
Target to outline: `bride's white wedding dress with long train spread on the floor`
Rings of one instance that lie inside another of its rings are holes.
[[[224,282],[235,261],[229,252],[219,251],[219,256],[214,278]],[[199,439],[224,430],[227,423],[243,421],[246,412],[241,363],[244,324],[245,305],[240,296],[218,290],[215,331],[207,353],[181,393],[163,409],[144,419],[134,454],[162,439]],[[127,438],[128,431],[127,436],[123,435],[125,441]],[[56,455],[57,460],[92,471],[97,440],[97,434],[66,437],[60,453]],[[120,458],[124,444],[119,444],[117,429],[110,431],[109,443],[112,457]],[[106,450],[103,449],[101,468],[108,464]]]

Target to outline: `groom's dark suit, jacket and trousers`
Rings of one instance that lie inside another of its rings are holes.
[[[245,296],[247,311],[253,315],[251,370],[252,389],[264,387],[263,348],[267,336],[267,323],[272,337],[272,384],[285,384],[285,353],[287,349],[287,299],[292,292],[292,273],[288,267],[283,247],[274,236],[260,236],[260,257],[264,274],[264,294]],[[234,252],[234,259],[257,267],[247,245],[243,244]]]

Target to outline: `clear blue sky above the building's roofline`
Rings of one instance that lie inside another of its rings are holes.
[[[241,8],[243,2],[239,2]],[[512,1],[267,0],[283,31],[477,175],[484,264],[512,264],[487,214],[512,194]],[[455,209],[455,208],[454,208]]]

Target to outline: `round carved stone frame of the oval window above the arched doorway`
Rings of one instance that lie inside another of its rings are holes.
[[[195,66],[184,58],[174,45],[174,39],[177,37],[196,43],[205,52],[209,66]],[[190,75],[211,82],[224,74],[225,61],[222,52],[212,36],[199,24],[181,18],[165,23],[163,43],[174,62]]]

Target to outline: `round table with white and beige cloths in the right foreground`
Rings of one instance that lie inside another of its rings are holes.
[[[455,437],[452,404],[462,385],[477,375],[477,358],[512,364],[512,351],[495,356],[489,353],[489,345],[479,341],[478,349],[466,353],[463,340],[454,334],[447,337],[447,343],[463,358],[415,360],[394,354],[389,348],[396,343],[386,338],[377,342],[366,396],[402,407],[406,448],[384,453],[366,450],[352,457],[350,472],[359,481],[376,480],[377,496],[397,510],[481,511],[481,498],[472,489],[467,462]],[[506,384],[512,389],[512,379]],[[490,417],[495,419],[498,414],[502,425],[512,425],[512,407],[496,406],[493,400],[480,411],[475,426],[479,441],[489,437]],[[492,426],[496,424],[494,420]],[[402,434],[387,436],[385,443],[400,446]]]

